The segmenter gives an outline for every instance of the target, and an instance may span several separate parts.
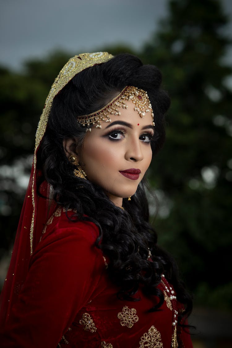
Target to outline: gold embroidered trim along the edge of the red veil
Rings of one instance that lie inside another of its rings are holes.
[[[35,151],[33,157],[34,172],[32,178],[32,221],[30,228],[30,244],[31,244],[31,254],[32,254],[32,244],[33,244],[33,231],[34,231],[34,217],[35,217],[35,200],[34,200],[34,189],[35,189],[35,168],[36,168],[36,151],[40,144],[40,141],[45,133],[48,116],[51,110],[51,105],[54,97],[59,91],[79,72],[84,69],[89,68],[95,64],[101,64],[109,61],[113,56],[107,52],[96,52],[96,53],[82,53],[77,56],[70,58],[70,60],[64,65],[64,67],[59,72],[57,78],[55,79],[53,85],[51,86],[50,92],[47,96],[45,106],[43,108],[42,115],[38,124],[37,132],[35,135]]]

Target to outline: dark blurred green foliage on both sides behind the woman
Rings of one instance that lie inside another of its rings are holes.
[[[223,31],[229,18],[217,0],[170,0],[168,6],[159,30],[139,52],[129,46],[96,51],[133,53],[162,71],[172,104],[166,144],[148,173],[159,200],[153,223],[195,304],[231,311],[232,68],[224,60],[231,40]],[[20,73],[0,68],[3,260],[14,242],[43,103],[74,54],[56,51],[27,61]]]

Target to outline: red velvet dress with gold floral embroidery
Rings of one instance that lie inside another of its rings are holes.
[[[155,296],[139,290],[140,301],[117,299],[106,260],[94,246],[97,236],[95,224],[71,222],[61,209],[49,219],[1,347],[177,347],[170,301],[148,313]],[[179,327],[177,341],[178,347],[192,347],[190,335]]]

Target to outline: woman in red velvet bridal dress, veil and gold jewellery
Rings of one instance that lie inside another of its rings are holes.
[[[56,78],[2,293],[4,347],[192,347],[191,299],[148,222],[160,84],[154,66],[106,52]]]

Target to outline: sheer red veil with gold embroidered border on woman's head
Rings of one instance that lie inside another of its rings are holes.
[[[37,169],[37,151],[45,133],[53,98],[80,71],[101,64],[113,56],[107,52],[83,53],[70,58],[58,74],[46,99],[35,136],[35,151],[29,185],[18,224],[10,267],[0,296],[0,325],[4,325],[10,316],[11,308],[27,276],[30,256],[39,243],[43,228],[55,209],[52,190],[47,182],[40,187],[43,196],[37,194],[37,182],[41,172]]]

